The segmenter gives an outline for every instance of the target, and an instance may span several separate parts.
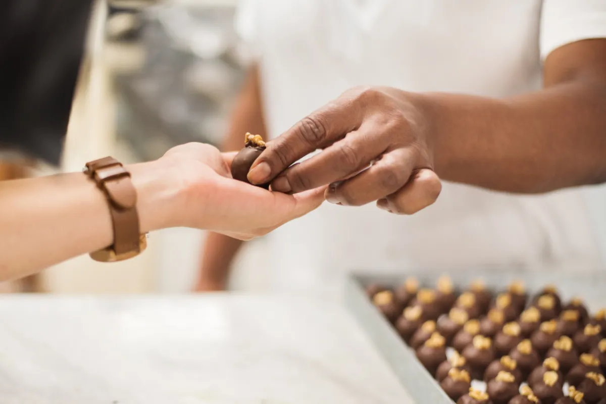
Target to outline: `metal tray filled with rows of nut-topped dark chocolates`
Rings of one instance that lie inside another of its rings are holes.
[[[347,305],[419,404],[606,404],[606,274],[352,276]]]

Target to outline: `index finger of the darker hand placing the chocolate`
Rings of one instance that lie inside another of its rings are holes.
[[[361,108],[355,99],[336,99],[268,142],[248,172],[248,180],[252,184],[269,182],[301,157],[356,130],[361,121]]]

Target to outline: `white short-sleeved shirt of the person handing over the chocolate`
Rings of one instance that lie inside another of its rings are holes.
[[[606,0],[250,0],[237,27],[258,51],[275,137],[356,85],[497,98],[539,90],[551,51],[606,37]],[[579,190],[444,184],[413,216],[325,203],[270,237],[277,289],[336,295],[351,270],[582,270],[601,260]]]

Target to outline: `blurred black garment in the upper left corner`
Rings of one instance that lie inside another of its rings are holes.
[[[0,148],[58,164],[93,0],[0,0]]]

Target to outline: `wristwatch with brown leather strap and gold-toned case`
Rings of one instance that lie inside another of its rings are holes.
[[[147,234],[139,230],[137,192],[130,173],[113,157],[88,162],[83,171],[107,197],[114,236],[112,245],[90,253],[90,257],[115,262],[137,256],[147,248]]]

